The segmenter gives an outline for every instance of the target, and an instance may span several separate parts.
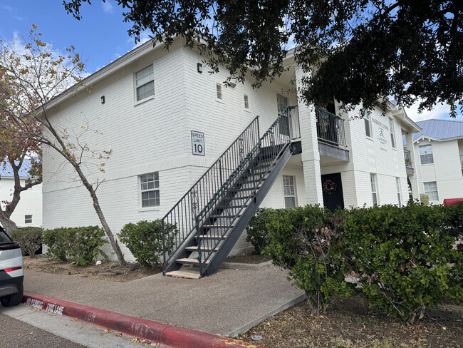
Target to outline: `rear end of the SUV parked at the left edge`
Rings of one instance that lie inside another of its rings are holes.
[[[14,242],[0,226],[0,303],[4,307],[16,306],[23,300],[23,255],[18,242]]]

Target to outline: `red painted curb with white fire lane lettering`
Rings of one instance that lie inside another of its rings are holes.
[[[176,327],[148,319],[110,312],[105,309],[25,293],[23,303],[47,312],[78,318],[90,324],[134,337],[149,339],[171,348],[264,348],[215,334]]]

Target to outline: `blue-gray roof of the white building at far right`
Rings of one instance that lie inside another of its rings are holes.
[[[413,141],[422,135],[437,140],[463,137],[463,121],[426,120],[417,122],[417,125],[422,131],[413,134]]]

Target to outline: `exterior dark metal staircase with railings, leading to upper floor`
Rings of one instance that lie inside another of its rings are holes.
[[[164,218],[164,275],[213,275],[288,162],[288,113],[259,138],[259,116]],[[189,267],[187,267],[189,266]]]

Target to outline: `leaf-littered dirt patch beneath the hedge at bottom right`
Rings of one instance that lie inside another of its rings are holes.
[[[313,317],[305,302],[266,319],[239,339],[268,348],[463,347],[463,307],[442,305],[421,322],[404,324],[371,312],[363,297],[335,299]],[[259,341],[252,336],[264,337]]]

